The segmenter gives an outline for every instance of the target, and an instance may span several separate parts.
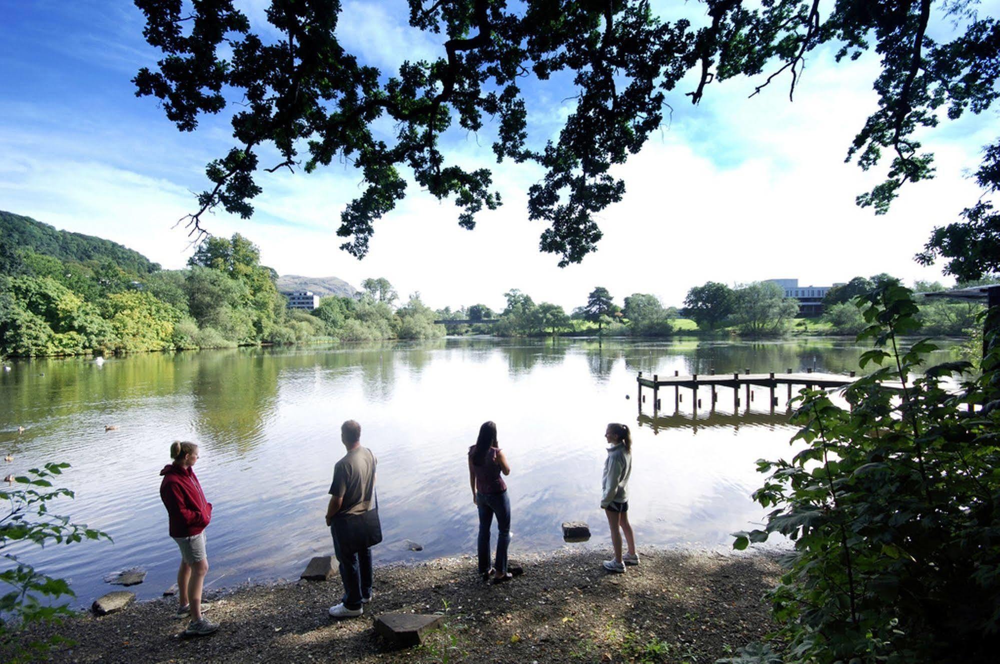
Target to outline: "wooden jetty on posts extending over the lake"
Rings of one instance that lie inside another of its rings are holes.
[[[850,376],[844,376],[843,374],[828,374],[828,373],[815,373],[812,369],[806,370],[806,373],[792,373],[789,369],[786,373],[766,373],[766,374],[752,374],[750,370],[745,370],[744,373],[731,373],[731,374],[721,374],[716,375],[713,371],[709,375],[699,375],[692,374],[690,376],[681,376],[679,372],[675,371],[673,376],[667,376],[661,378],[659,375],[654,375],[652,378],[643,378],[642,372],[639,372],[636,382],[639,384],[639,414],[642,414],[642,404],[645,401],[645,395],[642,393],[642,388],[649,387],[653,389],[653,416],[656,417],[657,413],[660,411],[660,388],[661,387],[672,387],[674,388],[674,411],[676,412],[680,407],[681,402],[683,402],[684,397],[681,394],[681,388],[691,390],[691,403],[692,410],[695,417],[698,414],[698,408],[701,407],[701,399],[698,398],[698,389],[702,387],[707,387],[711,391],[709,407],[711,410],[715,410],[715,404],[719,400],[718,388],[730,388],[733,390],[733,407],[740,407],[740,388],[744,388],[746,394],[746,403],[749,406],[750,401],[753,399],[753,393],[750,391],[751,386],[755,387],[766,387],[770,389],[770,406],[773,408],[778,403],[778,398],[775,396],[775,391],[781,385],[785,385],[788,388],[788,399],[792,398],[792,386],[801,385],[807,388],[820,388],[829,389],[833,387],[843,387],[845,385],[850,385],[855,381],[854,372],[851,372]]]

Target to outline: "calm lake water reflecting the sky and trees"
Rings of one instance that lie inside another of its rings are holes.
[[[672,391],[664,390],[666,416],[651,421],[638,417],[637,372],[846,373],[864,350],[829,339],[598,345],[459,338],[144,354],[103,366],[13,362],[0,374],[0,451],[14,456],[4,474],[46,461],[72,464],[62,485],[76,499],[53,511],[114,538],[26,552],[42,571],[71,579],[79,606],[117,588],[102,579],[125,568],[149,572],[130,588],[140,599],[174,582],[179,554],[158,492],[173,440],[201,445],[196,472],[214,504],[210,587],[297,578],[312,556],[332,555],[326,492],[344,453],[340,423],[350,418],[379,458],[385,540],[376,564],[475,552],[465,455],[485,420],[497,423],[513,469],[513,556],[610,546],[599,501],[604,428],[613,421],[633,431],[629,513],[640,547],[728,548],[730,532],[763,518],[750,500],[763,480],[754,461],[790,453],[785,390],[772,414],[765,388],[755,388],[749,410],[744,400],[735,413],[723,389],[716,412],[703,407],[696,421],[688,394],[674,415]],[[650,402],[644,411],[652,414]],[[26,429],[21,435],[18,426]],[[564,544],[567,520],[587,521],[594,537]],[[406,540],[423,551],[410,551]]]

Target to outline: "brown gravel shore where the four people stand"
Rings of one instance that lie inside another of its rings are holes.
[[[334,620],[339,578],[255,584],[209,593],[221,627],[181,639],[176,599],[136,603],[104,617],[81,614],[58,628],[75,641],[57,662],[713,662],[773,630],[761,601],[779,568],[766,554],[639,549],[626,574],[593,551],[512,561],[524,575],[492,585],[472,557],[375,570],[375,597],[360,618]],[[439,613],[424,643],[394,650],[372,619]],[[36,634],[36,636],[41,634]]]

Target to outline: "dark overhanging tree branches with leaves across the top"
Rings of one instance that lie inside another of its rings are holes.
[[[647,0],[409,0],[410,25],[441,35],[445,55],[393,73],[340,44],[335,0],[271,0],[267,29],[251,26],[233,0],[135,2],[146,40],[164,54],[134,78],[137,95],[158,98],[181,131],[195,130],[203,114],[241,105],[232,117],[235,145],[208,164],[209,187],[186,218],[191,231],[204,232],[203,214],[218,207],[250,217],[262,169],[310,172],[341,159],[365,183],[337,230],[357,257],[368,251],[374,222],[405,196],[402,169],[431,195],[452,198],[465,228],[483,207],[500,205],[491,171],[448,163],[439,143],[453,124],[478,131],[489,116],[498,162],[544,170],[528,192],[529,217],[547,224],[540,249],[561,266],[579,262],[601,239],[595,215],[625,193],[612,167],[661,126],[667,95],[688,73],[694,89],[684,94],[694,104],[711,84],[739,75],[759,77],[756,92],[783,76],[791,97],[806,56],[826,44],[837,46],[838,61],[869,50],[880,57],[877,108],[847,158],[865,170],[887,166],[886,179],[857,199],[884,213],[904,183],[934,175],[919,131],[987,110],[1000,74],[1000,25],[981,17],[975,0],[705,0],[675,21],[655,16]],[[692,19],[704,25],[692,27]],[[949,23],[950,41],[928,29]],[[280,37],[267,37],[275,30]],[[575,107],[543,144],[529,136],[523,90],[535,85],[528,79],[560,75],[572,78]],[[380,118],[395,125],[394,139],[373,133]],[[261,164],[272,148],[275,163]],[[976,180],[988,194],[1000,186],[1000,141],[986,146]],[[992,204],[975,201],[961,217],[935,230],[919,259],[945,258],[945,270],[961,279],[997,271]]]

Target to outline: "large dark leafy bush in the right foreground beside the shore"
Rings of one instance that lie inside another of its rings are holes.
[[[908,289],[882,284],[859,301],[873,338],[868,362],[888,366],[845,391],[849,409],[804,390],[789,462],[754,499],[775,508],[764,530],[735,533],[746,548],[771,533],[794,542],[769,593],[788,659],[817,662],[995,661],[1000,628],[1000,350],[958,392],[951,362],[916,375],[927,340]],[[994,344],[995,344],[994,340]],[[975,412],[969,406],[979,404]]]

